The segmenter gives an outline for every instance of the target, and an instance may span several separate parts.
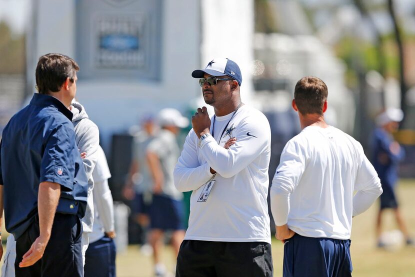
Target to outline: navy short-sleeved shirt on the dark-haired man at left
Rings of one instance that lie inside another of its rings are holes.
[[[88,180],[70,112],[58,99],[35,93],[3,129],[0,184],[6,230],[17,239],[37,215],[39,183],[61,186],[56,212],[83,217]]]

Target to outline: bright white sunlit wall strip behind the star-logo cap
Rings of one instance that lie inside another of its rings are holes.
[[[253,94],[251,65],[253,60],[253,0],[202,0],[202,67],[214,57],[235,61],[242,73],[242,101]]]

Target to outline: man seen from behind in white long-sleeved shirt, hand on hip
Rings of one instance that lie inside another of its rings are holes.
[[[351,218],[382,192],[360,143],[324,121],[327,95],[316,77],[295,85],[292,107],[302,131],[286,143],[272,180],[284,277],[351,276]]]

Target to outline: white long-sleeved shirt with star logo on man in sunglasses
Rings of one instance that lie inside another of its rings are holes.
[[[192,190],[184,238],[270,243],[268,120],[257,109],[243,105],[235,113],[213,116],[210,132],[213,137],[206,137],[198,147],[199,139],[190,130],[174,169],[176,188]],[[236,137],[235,144],[223,148],[230,137]],[[210,173],[210,167],[216,175]],[[198,202],[209,179],[215,180],[210,194],[205,202]]]

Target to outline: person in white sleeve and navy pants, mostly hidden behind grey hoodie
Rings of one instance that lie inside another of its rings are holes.
[[[94,216],[85,253],[84,276],[115,277],[114,208],[108,186],[111,173],[101,146],[98,146],[96,158],[92,171]]]

